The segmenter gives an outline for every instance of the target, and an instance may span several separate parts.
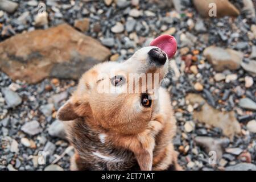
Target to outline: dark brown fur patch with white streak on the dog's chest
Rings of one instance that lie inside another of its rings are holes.
[[[133,152],[115,148],[108,135],[93,131],[83,121],[73,123],[68,138],[90,170],[129,170],[137,166]]]

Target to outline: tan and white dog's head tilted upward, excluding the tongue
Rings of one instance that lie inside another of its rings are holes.
[[[168,56],[155,46],[139,49],[123,63],[98,64],[82,75],[57,117],[84,117],[108,131],[137,134],[159,109],[158,88],[167,71]]]

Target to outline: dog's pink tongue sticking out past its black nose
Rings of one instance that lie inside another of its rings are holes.
[[[164,51],[170,59],[177,51],[177,43],[174,36],[160,35],[150,43],[150,46],[156,46]]]

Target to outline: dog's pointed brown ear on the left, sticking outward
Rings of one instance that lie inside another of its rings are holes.
[[[60,121],[71,121],[78,118],[79,115],[75,113],[74,106],[70,100],[68,100],[57,112],[57,119]]]

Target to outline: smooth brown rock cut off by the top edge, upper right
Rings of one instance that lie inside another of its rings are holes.
[[[223,16],[240,15],[239,10],[228,0],[193,0],[193,3],[199,14],[204,18],[212,17],[211,9],[213,6],[211,6],[210,3],[214,3],[216,5],[216,16],[218,18]]]

